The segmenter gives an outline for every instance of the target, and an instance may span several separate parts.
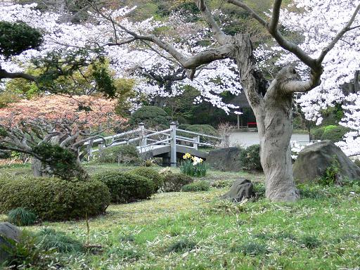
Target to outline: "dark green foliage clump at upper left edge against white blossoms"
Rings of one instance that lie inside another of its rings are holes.
[[[41,42],[41,33],[25,23],[0,22],[0,54],[6,59],[37,49]]]

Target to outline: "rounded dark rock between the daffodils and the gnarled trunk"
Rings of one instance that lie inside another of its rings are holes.
[[[206,162],[214,169],[226,172],[238,172],[241,170],[239,159],[240,151],[237,147],[213,150],[207,155]]]

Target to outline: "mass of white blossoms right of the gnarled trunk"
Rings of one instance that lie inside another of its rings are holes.
[[[302,35],[298,46],[309,56],[316,58],[330,44],[337,34],[349,23],[354,8],[359,1],[300,1],[294,0],[288,9],[283,9],[280,17],[283,31]],[[300,8],[304,12],[294,12]],[[344,141],[336,143],[347,155],[360,154],[360,21],[355,18],[347,32],[334,44],[333,49],[323,58],[322,83],[297,98],[308,120],[321,124],[321,110],[343,103],[345,117],[340,124],[354,129],[345,135]],[[272,65],[269,59],[278,58],[276,66],[295,65],[301,75],[307,77],[309,67],[294,54],[281,46],[261,46],[255,55],[260,68]],[[354,84],[352,94],[343,91],[344,86]]]

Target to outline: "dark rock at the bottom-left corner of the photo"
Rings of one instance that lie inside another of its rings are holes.
[[[0,223],[0,264],[8,258],[8,248],[12,248],[9,240],[18,242],[20,238],[20,230],[8,222]]]

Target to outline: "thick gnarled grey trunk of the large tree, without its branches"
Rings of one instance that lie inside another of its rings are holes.
[[[266,89],[266,80],[255,69],[252,44],[248,34],[235,37],[236,63],[243,90],[257,119],[260,139],[260,160],[266,177],[266,198],[294,201],[298,198],[291,162],[290,139],[293,133],[293,94],[284,93],[281,84],[297,79],[285,68]]]

